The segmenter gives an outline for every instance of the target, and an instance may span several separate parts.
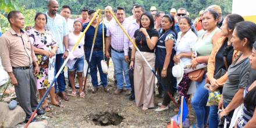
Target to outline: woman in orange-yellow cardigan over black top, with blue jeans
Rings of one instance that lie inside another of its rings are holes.
[[[218,74],[223,69],[227,70],[234,57],[237,56],[238,52],[234,51],[230,40],[236,23],[243,21],[243,17],[237,14],[227,15],[223,20],[220,32],[222,37],[215,43],[207,65],[207,78],[211,84],[211,91],[215,91],[217,88],[222,91],[222,86],[227,80],[227,73],[223,76]],[[218,106],[213,105],[209,108],[209,128],[218,127]]]

